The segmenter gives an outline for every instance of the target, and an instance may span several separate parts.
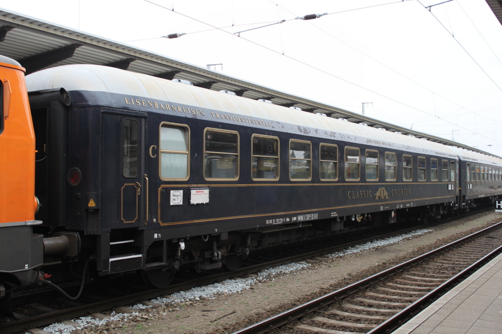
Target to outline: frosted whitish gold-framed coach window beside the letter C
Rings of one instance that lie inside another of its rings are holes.
[[[160,127],[160,177],[188,179],[190,170],[189,129],[186,126],[163,123]]]

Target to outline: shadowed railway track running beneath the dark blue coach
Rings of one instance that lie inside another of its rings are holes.
[[[443,222],[443,224],[444,223],[445,222]],[[290,252],[272,252],[274,254],[277,254],[273,259],[270,259],[270,255],[263,256],[262,254],[260,254],[260,252],[258,252],[256,257],[247,260],[246,263],[244,263],[244,267],[239,270],[233,272],[215,272],[205,276],[196,275],[195,277],[193,276],[193,274],[191,277],[190,275],[187,275],[181,278],[181,282],[172,284],[163,289],[146,290],[140,288],[138,290],[138,286],[135,286],[134,288],[137,289],[137,292],[130,292],[128,294],[119,296],[108,296],[107,298],[103,298],[102,296],[97,297],[99,293],[94,292],[90,295],[83,294],[82,297],[76,302],[63,300],[63,298],[55,298],[54,301],[51,302],[49,300],[48,302],[47,295],[51,293],[53,295],[58,295],[56,291],[42,291],[40,292],[40,295],[37,295],[37,292],[33,292],[30,296],[25,295],[17,297],[19,298],[19,300],[24,299],[24,303],[20,304],[22,305],[21,308],[33,309],[33,314],[31,314],[30,316],[18,316],[18,319],[15,321],[0,323],[0,333],[15,333],[27,330],[29,328],[40,327],[53,322],[58,322],[63,319],[71,319],[88,314],[97,313],[97,316],[101,316],[99,312],[113,309],[113,307],[116,307],[117,305],[129,305],[139,302],[148,304],[149,299],[163,295],[169,295],[180,290],[187,290],[194,286],[207,285],[227,278],[254,273],[272,266],[278,266],[281,264],[287,264],[294,261],[300,261],[307,258],[320,256],[326,253],[354,246],[356,244],[366,243],[368,241],[406,233],[408,231],[423,227],[424,225],[415,225],[406,229],[397,229],[396,227],[393,227],[391,225],[387,226],[383,230],[368,229],[365,231],[358,231],[353,235],[344,234],[343,236],[339,237],[338,240],[336,240],[336,237],[331,236],[329,239],[326,239],[325,242],[316,242],[315,245],[310,242],[306,242],[305,247],[303,247],[301,251],[299,251],[298,247],[294,247],[294,249]],[[349,242],[347,242],[347,237],[349,237]],[[282,253],[282,255],[279,255],[279,253]],[[294,253],[294,255],[291,255],[292,253]],[[92,282],[90,284],[95,284],[95,282]],[[134,288],[132,288],[132,290],[134,290]],[[84,291],[86,290],[88,289],[84,289]],[[95,288],[91,290],[95,290]],[[14,299],[14,302],[16,303],[17,300]]]

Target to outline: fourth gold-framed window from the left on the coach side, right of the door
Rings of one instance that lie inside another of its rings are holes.
[[[312,166],[311,143],[291,140],[289,142],[289,178],[291,180],[310,180]]]

